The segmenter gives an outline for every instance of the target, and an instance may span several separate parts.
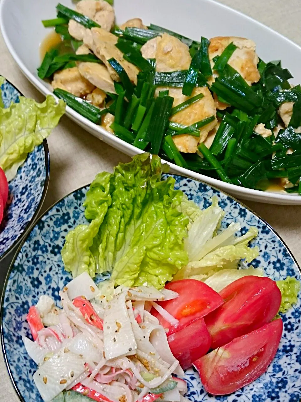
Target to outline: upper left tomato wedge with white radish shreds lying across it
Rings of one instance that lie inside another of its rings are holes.
[[[154,308],[151,310],[151,314],[158,318],[164,328],[169,329],[167,336],[206,316],[224,303],[222,297],[215,290],[195,279],[170,282],[165,285],[165,288],[177,292],[179,296],[157,303],[179,320],[179,324],[171,326]]]

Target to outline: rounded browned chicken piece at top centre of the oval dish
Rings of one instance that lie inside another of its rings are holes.
[[[187,70],[191,63],[189,47],[167,33],[146,42],[141,53],[146,59],[156,59],[156,71]]]

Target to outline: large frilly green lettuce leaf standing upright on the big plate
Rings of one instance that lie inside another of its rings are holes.
[[[96,176],[84,203],[91,223],[71,231],[62,251],[73,277],[109,271],[115,285],[160,288],[187,264],[189,219],[178,210],[183,193],[174,190],[174,178],[161,180],[164,171],[159,157],[141,154],[119,164],[106,185]],[[104,193],[106,210],[99,202]]]

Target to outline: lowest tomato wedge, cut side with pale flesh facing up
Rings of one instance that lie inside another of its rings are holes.
[[[282,330],[279,318],[195,361],[205,390],[231,394],[260,377],[274,359]]]

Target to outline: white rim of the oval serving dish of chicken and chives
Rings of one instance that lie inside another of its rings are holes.
[[[218,4],[219,7],[231,10],[235,14],[247,18],[249,21],[252,21],[252,23],[259,24],[261,27],[264,27],[265,29],[268,29],[270,32],[272,32],[274,35],[278,37],[282,37],[286,41],[289,41],[292,45],[297,47],[299,51],[301,52],[301,46],[297,45],[297,43],[293,42],[291,39],[287,38],[285,35],[282,35],[281,33],[275,31],[274,29],[268,27],[267,25],[264,25],[263,23],[260,23],[257,21],[255,18],[252,18],[246,14],[244,14],[241,11],[235,10],[234,8],[227,6],[226,4],[222,4],[216,0],[201,0],[203,2],[208,2],[208,3],[214,3]],[[24,65],[20,57],[17,55],[16,51],[14,50],[14,47],[12,46],[12,43],[8,39],[8,35],[6,33],[6,30],[4,29],[5,22],[3,18],[3,10],[5,7],[6,2],[8,0],[2,0],[0,2],[0,31],[2,33],[4,43],[6,44],[6,47],[10,54],[12,55],[14,61],[17,63],[18,67],[22,71],[22,74],[26,76],[26,78],[39,90],[42,94],[46,95],[53,95],[55,99],[58,102],[58,98],[51,92],[45,83],[42,83],[37,76],[35,76],[31,71],[28,70],[28,68]],[[112,146],[114,149],[120,149],[120,152],[123,152],[127,155],[133,156],[135,154],[141,154],[144,151],[139,150],[139,148],[136,148],[132,146],[131,144],[128,144],[127,142],[123,141],[122,139],[114,136],[114,144],[110,142],[110,139],[112,139],[112,134],[110,134],[108,131],[106,131],[102,126],[96,125],[95,123],[92,123],[92,121],[89,121],[85,117],[81,116],[79,113],[75,112],[73,109],[71,109],[69,106],[66,107],[66,115],[75,121],[75,123],[81,127],[83,127],[86,131],[88,131],[90,134],[92,134],[91,131],[88,130],[93,130],[93,134],[95,137],[99,138],[101,141],[106,142],[110,146]],[[96,133],[98,135],[96,135]],[[118,146],[120,148],[118,148]],[[121,149],[122,147],[122,149]],[[290,195],[286,193],[274,193],[273,191],[260,191],[260,190],[254,190],[254,189],[249,189],[247,187],[240,187],[235,184],[230,184],[230,183],[225,183],[222,182],[222,180],[212,178],[209,176],[205,176],[204,174],[200,174],[198,172],[194,172],[193,170],[189,170],[186,168],[181,168],[180,166],[177,166],[174,163],[167,162],[164,159],[161,159],[163,162],[168,163],[171,166],[171,169],[173,169],[174,172],[176,172],[179,175],[184,175],[184,176],[190,176],[191,178],[199,181],[204,181],[206,184],[210,186],[217,186],[219,187],[220,185],[223,186],[224,189],[228,192],[234,191],[236,195],[239,193],[239,197],[247,197],[249,199],[252,199],[253,201],[261,202],[261,203],[270,203],[270,204],[279,204],[279,205],[301,205],[301,196],[300,195]],[[224,191],[224,190],[222,190]],[[256,197],[256,199],[255,199]]]

